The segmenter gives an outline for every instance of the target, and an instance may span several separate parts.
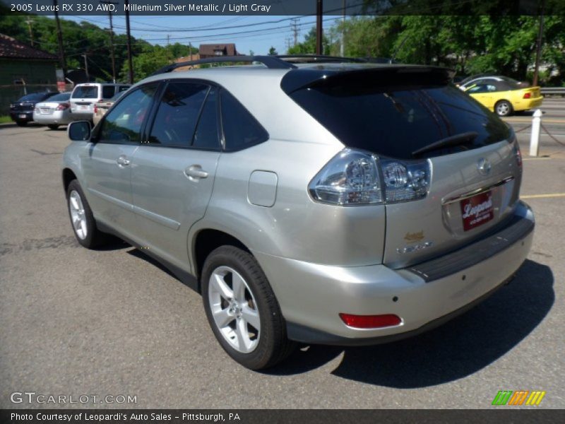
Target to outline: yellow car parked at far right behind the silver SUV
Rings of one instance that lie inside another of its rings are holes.
[[[528,87],[506,76],[482,76],[459,87],[500,117],[542,105],[540,87]]]

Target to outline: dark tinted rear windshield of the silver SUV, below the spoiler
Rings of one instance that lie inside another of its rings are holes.
[[[290,96],[345,146],[410,160],[412,152],[457,134],[478,135],[464,146],[430,151],[456,153],[508,139],[510,130],[492,112],[451,85],[418,86],[418,74],[355,74],[328,80]],[[332,81],[334,80],[334,81]],[[421,155],[419,157],[422,157]]]

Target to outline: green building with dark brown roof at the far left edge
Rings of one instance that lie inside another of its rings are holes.
[[[57,91],[57,63],[54,54],[0,34],[0,114],[25,93]]]

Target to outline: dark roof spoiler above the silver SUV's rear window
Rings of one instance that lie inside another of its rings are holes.
[[[316,88],[343,83],[370,83],[371,86],[408,88],[446,86],[455,76],[453,69],[423,65],[381,65],[338,68],[292,69],[280,81],[290,94],[302,88]]]

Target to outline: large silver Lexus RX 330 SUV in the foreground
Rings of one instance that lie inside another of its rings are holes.
[[[230,59],[190,64],[210,60]],[[234,360],[411,336],[521,266],[516,136],[451,71],[231,60],[262,65],[171,65],[95,129],[71,124],[62,177],[78,242],[143,247],[202,294]]]

